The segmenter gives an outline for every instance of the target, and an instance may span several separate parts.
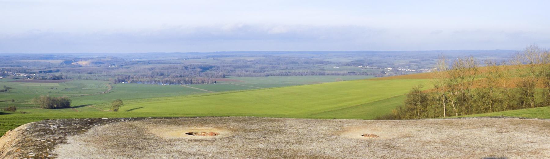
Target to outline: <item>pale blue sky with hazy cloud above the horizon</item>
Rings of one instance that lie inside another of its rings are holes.
[[[550,48],[550,1],[0,0],[0,53]]]

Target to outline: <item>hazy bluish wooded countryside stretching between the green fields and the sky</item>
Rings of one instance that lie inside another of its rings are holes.
[[[114,83],[208,84],[227,76],[373,75],[429,72],[441,54],[495,61],[515,51],[213,52],[4,54],[0,77]],[[58,77],[61,76],[61,77]]]

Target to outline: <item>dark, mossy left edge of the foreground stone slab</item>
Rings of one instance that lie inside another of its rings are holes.
[[[108,123],[142,119],[151,118],[46,119],[27,123],[0,138],[0,158],[56,158],[53,148],[65,143],[68,136]]]

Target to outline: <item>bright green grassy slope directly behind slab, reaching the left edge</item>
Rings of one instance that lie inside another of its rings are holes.
[[[67,111],[5,114],[0,116],[0,133],[25,123],[57,118],[257,116],[372,119],[398,106],[402,102],[402,95],[412,86],[426,82],[427,80],[423,79],[354,80],[190,96],[143,98],[127,103],[120,112]],[[128,93],[131,96],[131,91]],[[116,95],[109,94],[105,97]]]

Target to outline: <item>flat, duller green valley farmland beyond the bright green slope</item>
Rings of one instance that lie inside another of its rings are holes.
[[[151,85],[151,84],[111,84],[100,80],[70,80],[62,83],[29,83],[16,80],[0,79],[0,86],[11,87],[11,91],[0,93],[0,108],[18,107],[18,111],[27,113],[59,111],[99,111],[95,107],[105,108],[113,100],[137,100],[153,97],[171,97],[203,94],[208,92],[238,91],[262,89],[304,84],[327,83],[341,80],[367,79],[372,76],[268,76],[268,77],[235,77],[225,78],[218,84],[196,85]],[[17,80],[35,81],[35,80]],[[52,81],[52,80],[42,80]],[[109,87],[111,89],[109,90]],[[34,109],[31,99],[40,95],[67,96],[73,100],[74,109]],[[11,102],[11,100],[14,102]]]

